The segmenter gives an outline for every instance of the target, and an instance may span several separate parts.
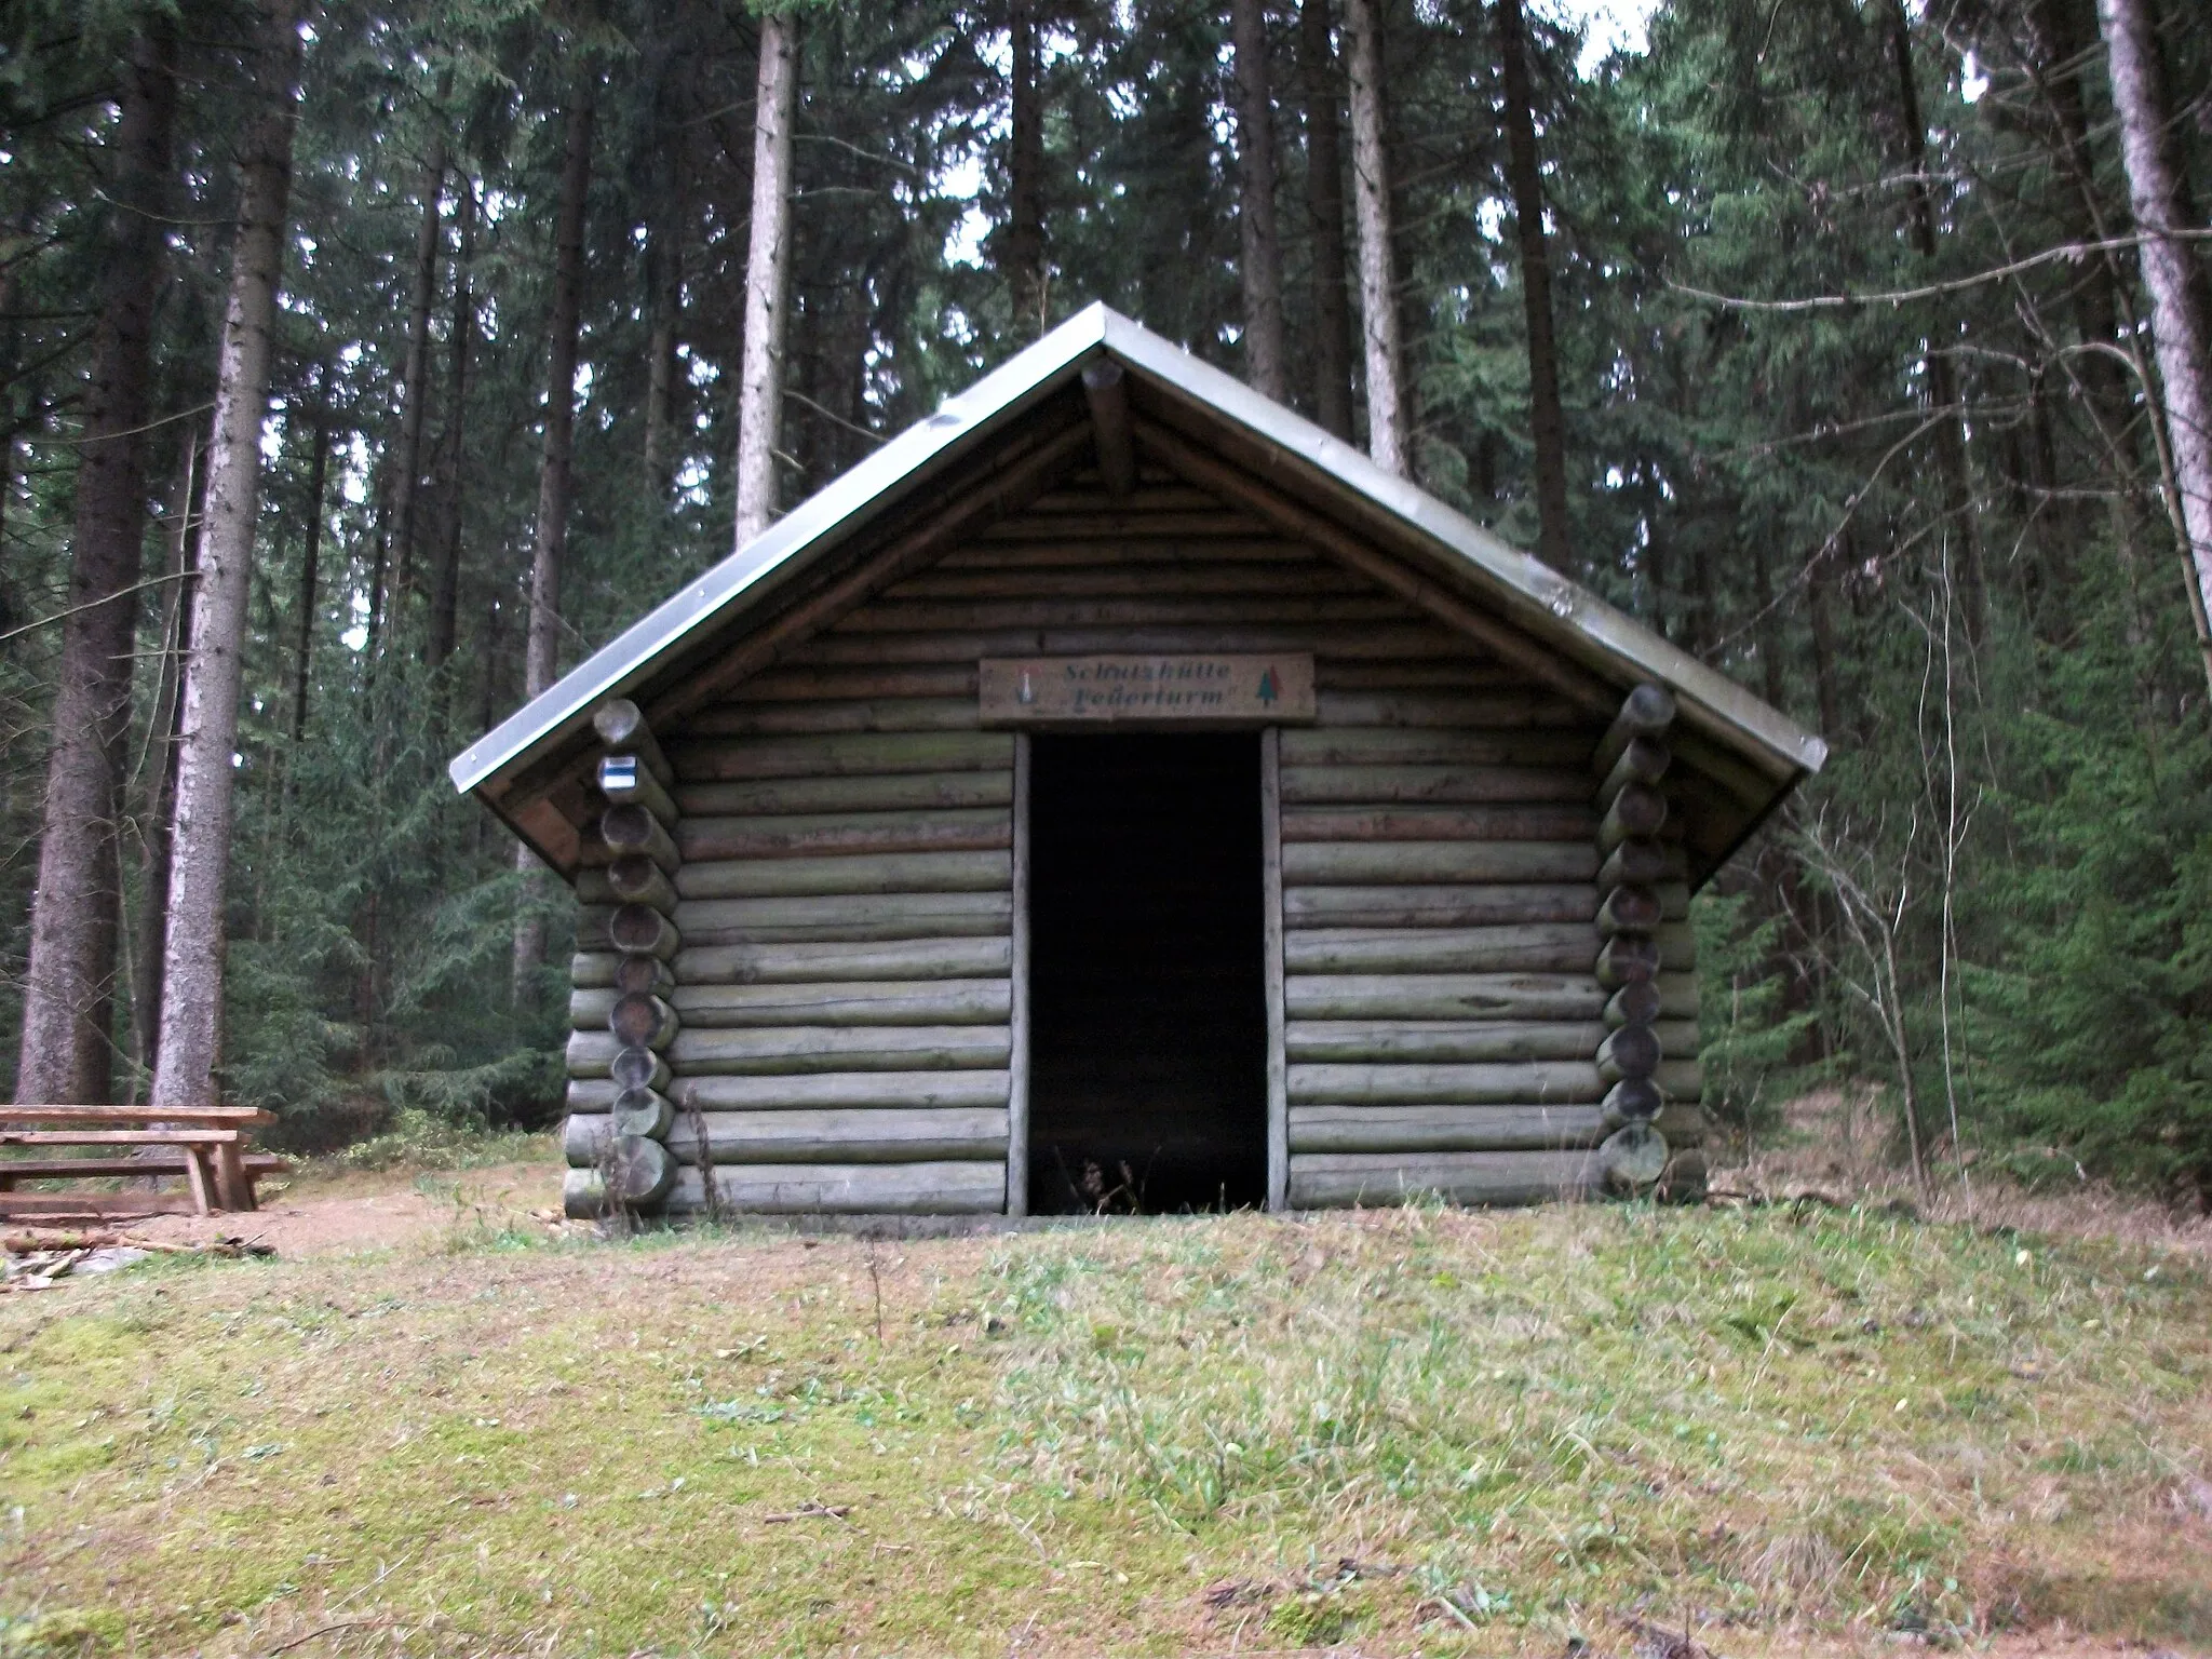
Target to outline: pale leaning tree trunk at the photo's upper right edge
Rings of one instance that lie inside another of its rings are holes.
[[[2119,157],[2128,168],[2128,201],[2143,237],[2143,288],[2150,290],[2150,334],[2159,352],[2159,394],[2172,456],[2181,551],[2190,564],[2190,611],[2197,646],[2212,684],[2212,338],[2197,285],[2188,190],[2168,142],[2159,42],[2146,0],[2097,0],[2112,108],[2119,113]]]

